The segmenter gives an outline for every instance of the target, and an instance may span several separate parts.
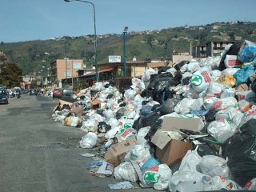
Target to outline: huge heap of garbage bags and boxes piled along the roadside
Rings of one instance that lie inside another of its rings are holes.
[[[235,42],[221,56],[147,69],[119,93],[110,82],[81,90],[56,122],[102,146],[94,174],[111,189],[256,190],[256,44]]]

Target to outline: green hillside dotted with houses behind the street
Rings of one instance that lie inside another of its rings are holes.
[[[250,40],[256,42],[256,22],[215,22],[206,26],[180,26],[162,30],[126,34],[127,61],[152,57],[171,57],[173,53],[189,52],[193,46],[209,41]],[[122,55],[122,34],[98,35],[98,63],[108,62],[109,55]],[[94,64],[94,36],[62,37],[44,41],[0,43],[0,52],[9,62],[22,68],[23,74],[42,71],[46,74],[50,61],[58,58],[83,59],[86,66]]]

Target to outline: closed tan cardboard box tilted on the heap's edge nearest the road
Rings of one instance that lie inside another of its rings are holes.
[[[136,138],[130,138],[110,146],[105,154],[106,162],[113,166],[118,166],[121,162],[124,162],[127,152],[135,145],[137,145]]]

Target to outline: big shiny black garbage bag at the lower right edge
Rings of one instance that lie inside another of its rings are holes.
[[[239,185],[256,178],[256,119],[250,119],[240,130],[225,142],[224,158],[228,158],[231,175]]]

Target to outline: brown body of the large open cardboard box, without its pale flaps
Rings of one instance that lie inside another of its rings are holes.
[[[157,147],[155,155],[160,162],[166,163],[167,166],[171,166],[175,162],[181,161],[186,155],[186,152],[191,149],[191,142],[182,142],[172,139],[162,150]]]

